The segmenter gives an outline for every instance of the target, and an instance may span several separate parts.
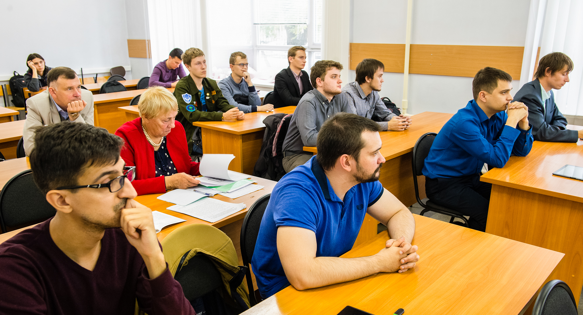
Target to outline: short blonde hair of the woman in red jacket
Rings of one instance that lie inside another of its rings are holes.
[[[161,86],[147,88],[138,102],[138,112],[142,118],[153,119],[173,111],[178,111],[178,102],[170,91]]]

